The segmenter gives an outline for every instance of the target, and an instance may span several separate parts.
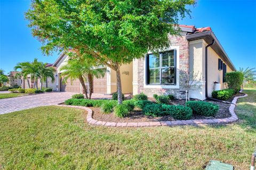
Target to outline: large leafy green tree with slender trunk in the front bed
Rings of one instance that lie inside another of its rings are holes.
[[[26,13],[46,54],[76,49],[116,71],[122,103],[120,67],[147,51],[169,46],[179,35],[178,21],[189,15],[193,0],[37,0]]]

